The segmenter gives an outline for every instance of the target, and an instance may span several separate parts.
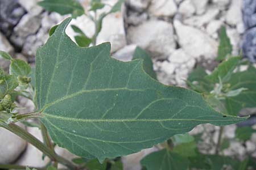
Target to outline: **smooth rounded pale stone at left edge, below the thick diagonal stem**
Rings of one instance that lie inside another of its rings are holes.
[[[0,141],[0,164],[14,162],[27,145],[26,141],[3,128],[0,128]]]

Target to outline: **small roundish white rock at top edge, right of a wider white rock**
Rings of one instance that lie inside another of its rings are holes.
[[[196,8],[191,0],[185,0],[180,3],[179,13],[185,17],[192,16],[196,12]]]

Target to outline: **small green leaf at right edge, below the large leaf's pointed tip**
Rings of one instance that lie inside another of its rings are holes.
[[[240,141],[247,141],[251,138],[251,135],[256,133],[256,130],[251,127],[238,127],[236,129],[236,138]]]

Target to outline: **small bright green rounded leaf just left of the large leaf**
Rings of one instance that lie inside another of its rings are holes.
[[[9,71],[11,75],[27,76],[31,72],[31,67],[22,59],[12,59]]]

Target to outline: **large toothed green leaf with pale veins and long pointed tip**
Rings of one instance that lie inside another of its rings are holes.
[[[73,154],[101,160],[127,155],[198,124],[245,120],[213,110],[200,94],[165,86],[143,60],[110,57],[110,44],[77,46],[65,19],[36,52],[36,103],[53,141]]]

